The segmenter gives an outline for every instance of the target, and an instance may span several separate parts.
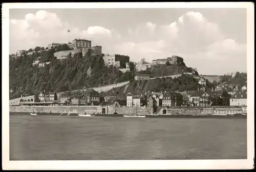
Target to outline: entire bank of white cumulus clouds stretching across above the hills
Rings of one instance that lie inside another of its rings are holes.
[[[178,55],[184,58],[187,66],[197,67],[202,73],[237,70],[238,66],[229,62],[240,64],[240,69],[246,70],[246,45],[226,37],[217,23],[199,12],[187,12],[162,25],[145,21],[134,28],[127,27],[126,33],[122,34],[98,25],[76,28],[55,13],[42,10],[29,13],[24,19],[10,19],[12,52],[47,46],[52,42],[65,43],[74,38],[90,39],[93,44],[102,45],[103,53],[129,55],[132,61],[141,58],[152,61]]]

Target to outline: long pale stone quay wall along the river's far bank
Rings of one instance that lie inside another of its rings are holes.
[[[9,107],[10,112],[46,112],[46,113],[105,113],[105,114],[131,114],[131,113],[152,113],[152,109],[147,107],[115,107],[115,106],[15,106]],[[223,107],[159,107],[159,115],[199,115],[199,114],[238,114],[246,113],[247,107],[223,106]]]

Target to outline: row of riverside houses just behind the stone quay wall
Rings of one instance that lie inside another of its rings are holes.
[[[179,106],[246,106],[247,90],[237,90],[230,95],[226,90],[214,91],[198,90],[184,92],[145,92],[144,94],[127,93],[126,97],[104,96],[93,89],[88,89],[80,93],[62,94],[59,96],[54,92],[42,91],[38,95],[39,102],[53,103],[58,102],[65,105],[73,106],[127,106],[141,107],[146,106],[152,109],[157,107],[179,107]],[[31,102],[34,102],[31,99]]]

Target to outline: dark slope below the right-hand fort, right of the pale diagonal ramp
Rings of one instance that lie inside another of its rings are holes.
[[[213,86],[207,81],[207,86]],[[102,93],[104,96],[123,96],[127,92],[133,94],[141,94],[147,91],[168,91],[168,90],[197,90],[199,87],[198,80],[190,75],[182,75],[178,78],[157,78],[153,80],[138,80],[130,82],[122,87],[114,88],[112,90]]]

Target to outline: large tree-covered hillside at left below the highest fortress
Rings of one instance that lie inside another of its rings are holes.
[[[69,56],[68,59],[59,61],[49,51],[42,56],[42,60],[51,63],[41,68],[32,66],[33,60],[38,56],[40,55],[33,53],[9,60],[10,89],[13,90],[10,99],[15,99],[22,93],[38,94],[41,90],[60,92],[114,84],[122,76],[117,68],[106,67],[102,56],[93,56],[90,52],[84,57],[82,53],[77,53],[74,57]]]

